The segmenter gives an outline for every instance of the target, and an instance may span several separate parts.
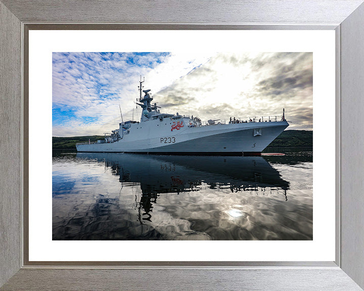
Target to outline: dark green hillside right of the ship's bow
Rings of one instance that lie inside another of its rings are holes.
[[[313,146],[313,131],[285,130],[267,148],[303,148]]]

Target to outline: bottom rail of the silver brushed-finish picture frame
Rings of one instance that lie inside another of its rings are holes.
[[[340,269],[22,269],[0,288],[7,291],[79,289],[361,290]]]

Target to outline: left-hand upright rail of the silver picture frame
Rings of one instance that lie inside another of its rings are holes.
[[[0,286],[21,266],[20,48],[21,23],[0,2]]]

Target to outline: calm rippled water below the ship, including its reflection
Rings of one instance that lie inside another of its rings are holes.
[[[312,152],[53,155],[53,239],[311,240]]]

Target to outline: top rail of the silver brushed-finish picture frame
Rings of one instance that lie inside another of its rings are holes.
[[[22,21],[156,23],[335,23],[361,0],[3,0]]]

